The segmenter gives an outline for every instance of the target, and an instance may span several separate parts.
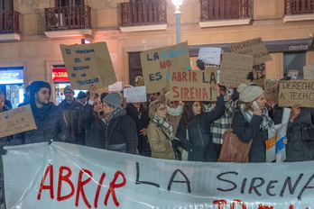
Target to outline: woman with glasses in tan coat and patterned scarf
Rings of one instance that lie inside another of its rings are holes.
[[[176,159],[174,150],[180,146],[175,138],[172,124],[167,118],[167,107],[159,100],[153,101],[148,108],[151,122],[148,125],[147,136],[152,150],[152,158]]]

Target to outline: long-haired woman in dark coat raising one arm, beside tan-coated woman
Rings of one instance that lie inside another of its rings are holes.
[[[219,86],[215,85],[213,89],[217,94],[217,105],[211,111],[205,112],[201,101],[189,101],[184,104],[177,137],[181,147],[189,152],[189,161],[217,161],[217,150],[209,130],[210,124],[225,113],[225,103],[224,97],[219,95]]]

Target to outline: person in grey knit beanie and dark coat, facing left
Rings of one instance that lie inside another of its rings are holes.
[[[137,132],[134,120],[121,108],[122,97],[117,92],[106,95],[103,110],[106,121],[106,150],[137,154]]]

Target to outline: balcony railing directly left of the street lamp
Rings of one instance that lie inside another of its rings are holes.
[[[118,4],[119,26],[167,23],[166,0]]]

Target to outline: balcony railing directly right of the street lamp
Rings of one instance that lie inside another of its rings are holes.
[[[200,21],[251,18],[251,0],[199,0]]]

